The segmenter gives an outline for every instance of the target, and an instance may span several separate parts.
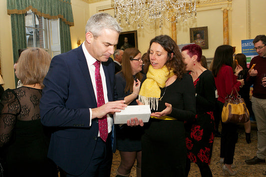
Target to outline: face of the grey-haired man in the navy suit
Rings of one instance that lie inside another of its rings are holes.
[[[112,29],[102,29],[98,37],[90,32],[86,33],[89,54],[95,59],[105,62],[114,53],[114,45],[117,44],[119,33]]]

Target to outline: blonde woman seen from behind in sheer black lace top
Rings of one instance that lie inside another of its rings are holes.
[[[21,53],[17,77],[23,86],[7,89],[1,97],[0,147],[6,158],[8,177],[56,177],[56,166],[47,159],[48,130],[40,123],[42,81],[51,57],[40,48]]]

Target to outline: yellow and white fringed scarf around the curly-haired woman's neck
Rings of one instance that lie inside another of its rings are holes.
[[[164,65],[161,69],[153,69],[149,66],[147,79],[142,83],[139,92],[139,101],[145,105],[150,105],[151,109],[158,109],[158,100],[161,97],[161,89],[165,87],[165,83],[169,77],[174,75],[173,70],[167,69]]]

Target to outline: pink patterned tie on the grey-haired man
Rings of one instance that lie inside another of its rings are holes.
[[[105,104],[102,88],[102,78],[100,74],[100,61],[96,61],[93,65],[95,66],[95,81],[96,81],[96,90],[97,90],[97,107],[100,107]],[[107,116],[98,119],[99,122],[99,131],[101,139],[106,142],[108,137],[108,125],[107,125]]]

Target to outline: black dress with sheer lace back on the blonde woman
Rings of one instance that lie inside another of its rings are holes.
[[[57,177],[47,158],[48,130],[40,122],[41,90],[7,89],[0,114],[0,147],[6,155],[7,177]]]

